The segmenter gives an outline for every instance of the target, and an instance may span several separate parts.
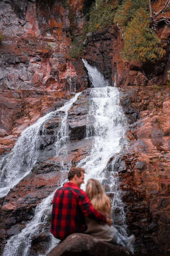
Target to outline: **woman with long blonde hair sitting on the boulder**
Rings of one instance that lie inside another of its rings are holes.
[[[96,210],[111,218],[111,202],[106,195],[101,183],[97,179],[89,179],[86,185],[86,193],[91,204]],[[121,235],[115,227],[107,224],[97,223],[96,221],[85,217],[87,229],[86,234],[92,235],[103,242],[118,244],[130,250],[132,243],[135,241],[135,236],[129,238]]]

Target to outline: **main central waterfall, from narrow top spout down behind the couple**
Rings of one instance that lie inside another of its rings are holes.
[[[115,215],[117,216],[114,224],[121,233],[127,235],[119,178],[116,171],[118,158],[115,157],[112,161],[111,171],[106,169],[109,159],[118,154],[126,144],[126,118],[120,106],[118,89],[108,86],[108,82],[97,72],[96,68],[88,65],[86,60],[83,62],[90,74],[91,82],[94,84],[94,88],[90,90],[89,118],[93,115],[95,123],[87,125],[87,136],[93,136],[95,140],[90,155],[83,159],[79,166],[85,168],[85,183],[89,178],[96,178],[101,181],[109,194],[114,194],[111,199],[113,219],[115,219]]]

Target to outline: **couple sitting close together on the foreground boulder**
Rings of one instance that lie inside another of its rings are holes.
[[[86,192],[80,189],[80,185],[84,183],[84,172],[83,168],[71,167],[69,182],[56,190],[52,202],[51,232],[60,240],[72,233],[85,232],[100,241],[121,245],[130,250],[135,236],[126,238],[111,226],[110,198],[101,183],[96,179],[89,179]]]

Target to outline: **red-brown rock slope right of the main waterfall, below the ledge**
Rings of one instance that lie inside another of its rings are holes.
[[[123,201],[128,207],[126,218],[131,232],[137,237],[135,250],[141,253],[167,252],[169,89],[130,87],[129,90],[121,89],[121,92],[125,92],[122,105],[131,124],[127,132],[130,146],[122,157],[125,168],[119,173]],[[136,122],[132,121],[135,112],[132,108],[137,110]]]

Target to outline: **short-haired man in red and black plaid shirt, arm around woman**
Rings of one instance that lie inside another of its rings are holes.
[[[56,190],[53,198],[51,232],[63,240],[72,233],[84,231],[84,216],[98,222],[112,224],[112,220],[99,213],[90,203],[87,194],[80,189],[84,183],[84,169],[71,167],[69,182]]]

